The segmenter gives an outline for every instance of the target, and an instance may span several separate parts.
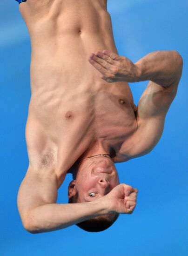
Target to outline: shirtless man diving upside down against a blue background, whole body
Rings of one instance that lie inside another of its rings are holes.
[[[138,192],[119,184],[114,163],[145,155],[159,141],[182,58],[157,51],[134,64],[119,56],[107,0],[19,2],[32,46],[29,166],[18,193],[23,226],[31,233],[78,223],[107,229],[133,212]],[[138,107],[128,85],[137,81],[149,81]],[[67,173],[74,177],[69,202],[77,203],[56,204]]]

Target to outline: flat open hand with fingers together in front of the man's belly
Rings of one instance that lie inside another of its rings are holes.
[[[91,54],[88,61],[101,72],[101,79],[109,83],[139,81],[139,68],[124,56],[103,50]]]

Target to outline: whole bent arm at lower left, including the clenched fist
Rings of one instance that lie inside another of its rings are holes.
[[[45,174],[29,168],[18,193],[18,209],[23,226],[30,233],[41,233],[63,229],[114,211],[132,213],[135,193],[132,197],[125,194],[126,201],[122,200],[122,195],[130,190],[127,192],[129,195],[134,189],[120,184],[113,190],[93,202],[56,204],[57,179],[54,172],[47,171]]]

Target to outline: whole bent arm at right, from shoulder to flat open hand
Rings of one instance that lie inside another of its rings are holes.
[[[183,60],[176,51],[152,52],[135,64],[107,50],[90,56],[89,62],[102,74],[101,79],[139,82],[149,80],[137,108],[137,131],[122,144],[122,154],[136,157],[147,154],[159,141],[168,108],[175,98]],[[144,138],[144,140],[143,140]]]

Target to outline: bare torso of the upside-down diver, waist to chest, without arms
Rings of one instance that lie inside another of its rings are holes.
[[[32,46],[26,126],[31,165],[40,168],[54,162],[56,169],[65,171],[94,141],[118,151],[134,133],[128,83],[103,81],[88,62],[91,53],[104,49],[118,54],[106,4],[106,0],[20,4]]]

